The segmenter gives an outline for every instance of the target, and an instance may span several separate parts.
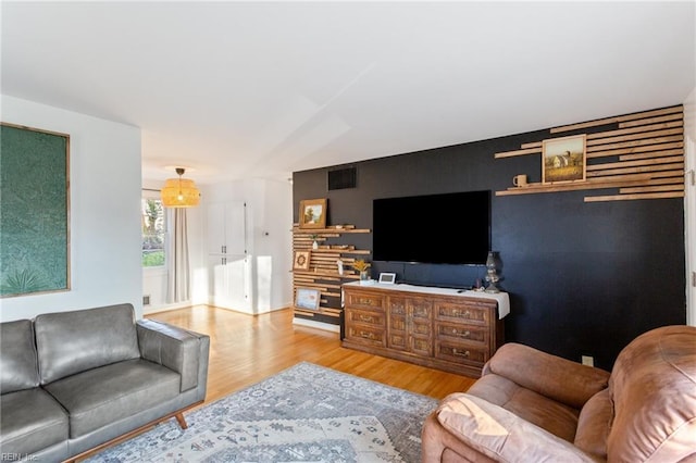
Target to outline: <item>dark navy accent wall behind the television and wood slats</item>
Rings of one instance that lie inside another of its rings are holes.
[[[511,300],[506,340],[573,361],[592,355],[596,366],[610,370],[637,335],[686,323],[684,202],[585,203],[585,191],[496,197],[517,174],[539,182],[542,161],[538,154],[494,154],[552,137],[538,130],[355,163],[353,189],[327,190],[326,173],[335,167],[296,172],[295,221],[301,199],[328,198],[327,224],[372,228],[375,198],[489,189],[499,286]],[[418,211],[412,218],[421,220]],[[465,227],[467,204],[438,226]],[[406,229],[394,239],[409,246],[413,237]],[[372,249],[371,235],[350,240]],[[396,272],[399,279],[456,287],[485,275],[483,266],[388,262],[374,262],[372,271],[373,277]]]

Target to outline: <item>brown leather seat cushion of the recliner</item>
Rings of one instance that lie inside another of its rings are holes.
[[[580,411],[496,374],[482,376],[467,391],[501,406],[569,442],[575,438]]]

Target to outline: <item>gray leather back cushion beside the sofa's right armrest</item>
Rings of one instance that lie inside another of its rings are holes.
[[[42,385],[140,356],[130,304],[42,314],[34,328]]]

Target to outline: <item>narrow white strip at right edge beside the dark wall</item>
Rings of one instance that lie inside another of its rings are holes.
[[[686,324],[696,326],[696,186],[692,184],[696,176],[696,88],[684,101],[684,149],[686,182],[684,184],[684,215],[686,227]]]

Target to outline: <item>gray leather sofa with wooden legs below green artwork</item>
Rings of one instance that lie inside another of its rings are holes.
[[[210,338],[130,304],[0,324],[2,460],[85,456],[202,403]]]

